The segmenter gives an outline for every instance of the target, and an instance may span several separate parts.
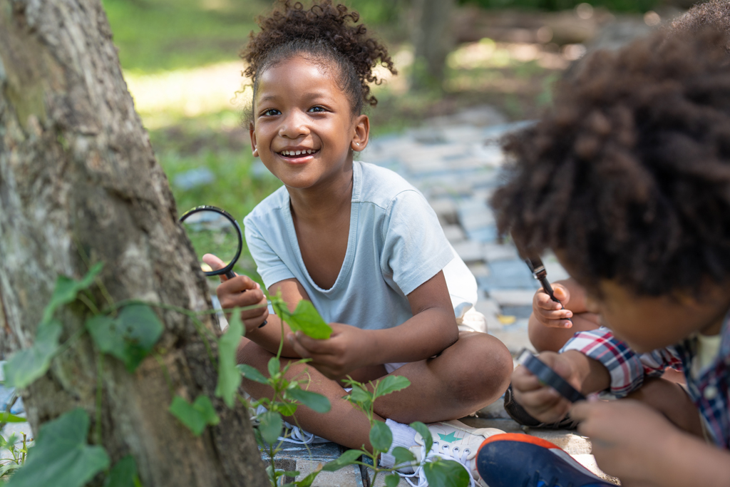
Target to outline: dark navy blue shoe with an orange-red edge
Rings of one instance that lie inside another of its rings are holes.
[[[489,487],[615,487],[557,445],[529,434],[496,434],[484,440],[477,470]]]

